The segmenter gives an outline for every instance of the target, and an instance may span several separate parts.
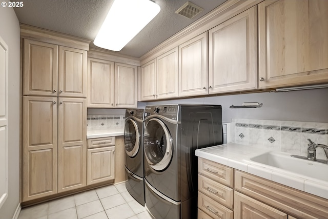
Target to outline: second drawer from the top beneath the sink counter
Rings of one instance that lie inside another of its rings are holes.
[[[198,191],[213,198],[216,202],[233,209],[234,190],[198,174]]]

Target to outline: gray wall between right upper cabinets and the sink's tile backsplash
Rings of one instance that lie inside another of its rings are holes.
[[[231,105],[237,106],[244,102],[258,102],[263,106],[251,109],[229,108]],[[219,104],[222,106],[224,122],[231,122],[232,118],[328,122],[328,88],[143,102],[138,103],[138,107],[157,104]]]

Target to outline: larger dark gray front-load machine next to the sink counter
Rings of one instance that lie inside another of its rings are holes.
[[[145,206],[156,219],[197,217],[195,150],[222,138],[219,105],[146,106]]]

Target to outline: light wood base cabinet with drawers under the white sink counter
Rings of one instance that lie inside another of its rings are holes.
[[[328,218],[328,200],[199,157],[197,218]]]

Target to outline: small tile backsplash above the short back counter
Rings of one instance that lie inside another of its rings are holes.
[[[124,129],[124,115],[88,115],[87,130]]]

